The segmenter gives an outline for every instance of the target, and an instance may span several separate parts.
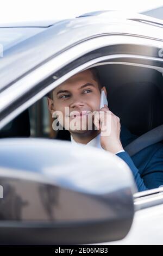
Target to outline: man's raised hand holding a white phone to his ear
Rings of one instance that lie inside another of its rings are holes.
[[[123,150],[120,141],[120,118],[113,114],[106,105],[95,113],[93,123],[97,129],[101,130],[101,146],[103,149],[114,154]]]

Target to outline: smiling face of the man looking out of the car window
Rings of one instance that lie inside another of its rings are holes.
[[[49,100],[48,105],[51,113],[62,113],[64,119],[58,120],[63,127],[71,132],[70,123],[73,121],[75,126],[80,127],[79,130],[75,129],[75,132],[82,133],[88,130],[88,120],[92,119],[92,112],[99,109],[100,99],[101,92],[97,81],[93,79],[90,70],[85,70],[55,88],[53,101]],[[69,113],[65,111],[65,107]]]

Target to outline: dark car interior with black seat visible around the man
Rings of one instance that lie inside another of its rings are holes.
[[[109,109],[120,117],[121,124],[131,133],[142,136],[163,124],[161,68],[107,62],[92,66],[96,66],[101,82],[106,87]],[[52,121],[45,96],[3,127],[0,138],[46,137],[70,140],[68,131],[53,131]]]

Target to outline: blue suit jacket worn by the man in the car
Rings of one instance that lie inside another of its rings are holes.
[[[137,136],[132,135],[126,127],[121,126],[120,133],[123,148]],[[131,169],[139,191],[163,185],[163,144],[155,143],[130,157],[128,153],[118,153]]]

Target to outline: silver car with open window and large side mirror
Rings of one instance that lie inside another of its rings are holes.
[[[109,108],[138,137],[130,155],[162,143],[162,28],[120,11],[0,26],[1,245],[163,244],[163,188],[137,192],[117,156],[66,141],[46,99],[96,66]]]

